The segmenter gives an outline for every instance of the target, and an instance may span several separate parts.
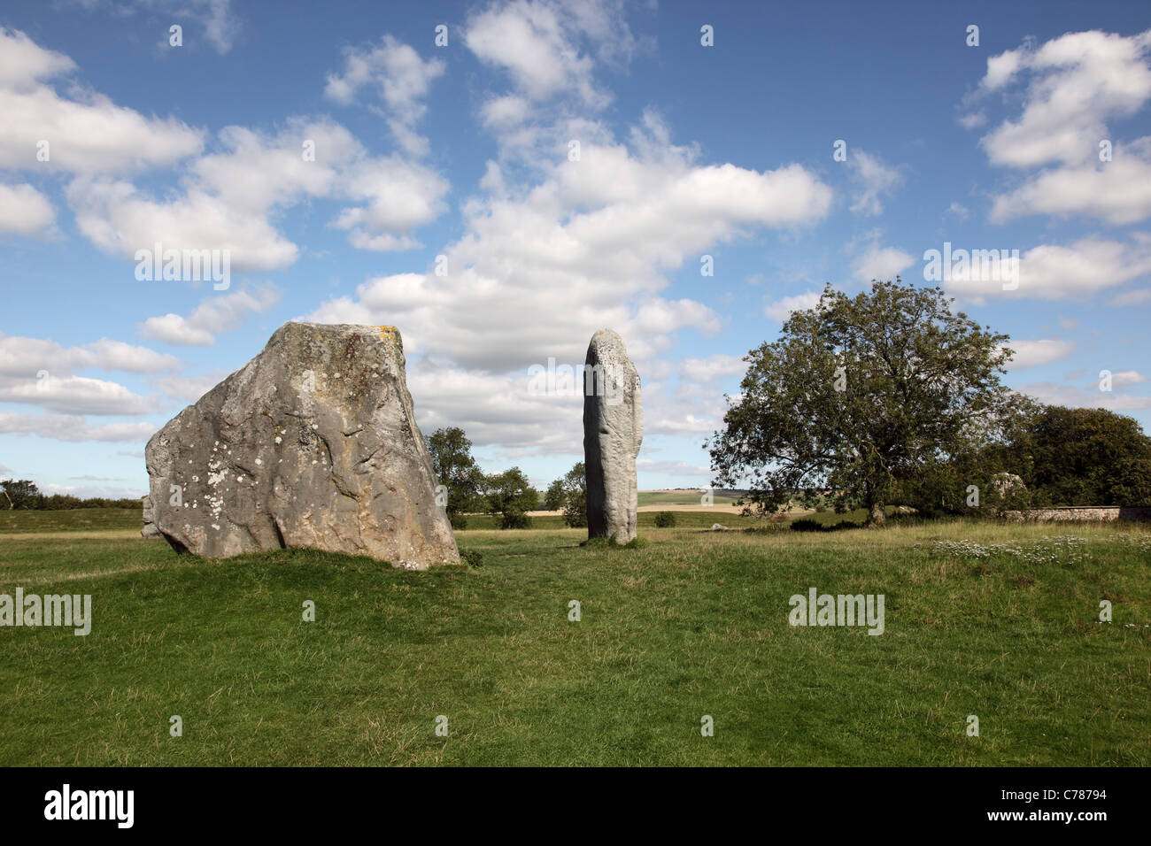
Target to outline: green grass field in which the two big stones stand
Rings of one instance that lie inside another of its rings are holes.
[[[0,764],[1151,764],[1141,527],[645,525],[612,549],[538,521],[413,573],[177,557],[129,516],[2,516],[0,593],[91,594],[94,619],[0,628]],[[884,633],[790,626],[811,587],[883,594]]]

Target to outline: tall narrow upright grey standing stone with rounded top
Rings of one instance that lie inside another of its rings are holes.
[[[611,329],[592,336],[584,383],[584,467],[587,535],[635,538],[635,456],[643,441],[640,378]]]

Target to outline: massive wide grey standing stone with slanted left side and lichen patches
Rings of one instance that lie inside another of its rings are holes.
[[[285,323],[145,455],[154,525],[178,551],[459,563],[392,327]]]

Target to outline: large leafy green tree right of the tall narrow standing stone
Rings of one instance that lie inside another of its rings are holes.
[[[828,285],[780,336],[745,358],[740,395],[709,447],[717,487],[747,487],[768,513],[830,496],[837,510],[910,504],[925,468],[1000,436],[1012,395],[1006,335],[953,313],[939,288],[872,281],[848,297]]]

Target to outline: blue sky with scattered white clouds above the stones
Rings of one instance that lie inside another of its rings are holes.
[[[825,282],[927,284],[945,242],[1019,251],[1007,290],[943,282],[1012,336],[1008,384],[1151,422],[1145,2],[56,0],[0,26],[0,478],[145,493],[147,437],[307,319],[397,326],[425,433],[540,485],[582,456],[582,398],[528,368],[610,326],[640,487],[701,486],[740,357]],[[227,251],[228,288],[138,280],[157,242]]]

